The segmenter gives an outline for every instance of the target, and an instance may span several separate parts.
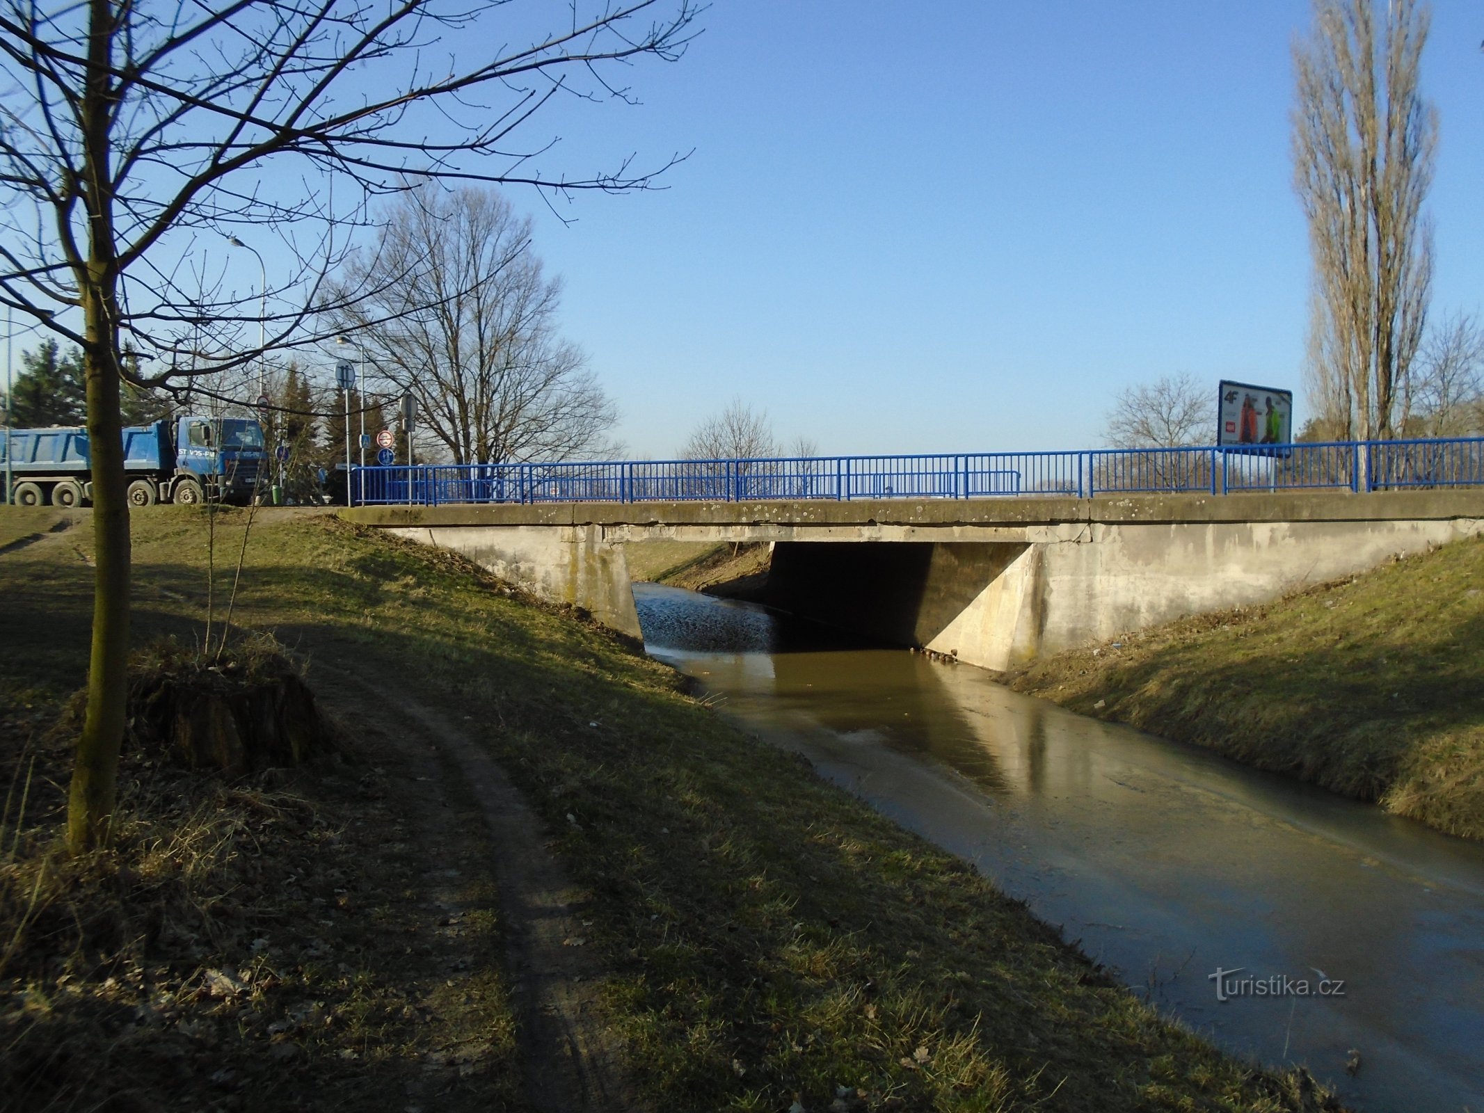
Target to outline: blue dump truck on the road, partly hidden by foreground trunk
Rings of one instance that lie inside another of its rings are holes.
[[[0,476],[4,451],[0,435]],[[21,506],[92,502],[86,429],[12,429],[10,457],[12,502]],[[208,497],[248,503],[264,466],[263,426],[251,418],[177,417],[123,430],[131,506],[188,505]]]

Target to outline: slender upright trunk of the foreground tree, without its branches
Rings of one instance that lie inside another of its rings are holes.
[[[82,853],[108,841],[119,746],[123,743],[129,654],[129,502],[125,497],[119,414],[117,257],[110,178],[111,43],[108,0],[89,3],[89,71],[83,89],[83,190],[88,260],[79,267],[88,372],[88,444],[93,502],[93,628],[88,663],[88,712],[67,800],[67,843]]]

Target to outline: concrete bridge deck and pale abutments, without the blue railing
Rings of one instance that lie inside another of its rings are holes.
[[[766,600],[1005,669],[1184,614],[1264,603],[1484,531],[1484,490],[362,506],[638,635],[625,551],[769,542]]]

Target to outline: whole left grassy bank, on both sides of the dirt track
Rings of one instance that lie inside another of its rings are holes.
[[[218,516],[218,554],[236,552],[243,516]],[[199,629],[205,521],[187,508],[135,515],[141,640]],[[82,681],[89,545],[83,521],[0,556],[10,775],[16,741]],[[583,890],[635,1107],[1318,1107],[1306,1079],[1255,1071],[1163,1021],[966,865],[730,727],[603,631],[332,518],[260,515],[246,564],[240,622],[313,654],[316,687],[346,666],[386,693],[386,706],[338,702],[349,733],[370,736],[358,745],[375,743],[398,693],[416,693],[466,721],[525,791]],[[230,570],[218,574],[220,603]],[[239,1091],[237,1107],[283,1107],[283,1088],[306,1086],[321,1109],[401,1110],[404,1083],[411,1094],[426,1077],[442,1097],[423,1109],[518,1107],[478,862],[457,859],[459,899],[482,917],[457,974],[435,974],[436,948],[404,957],[395,942],[418,938],[432,884],[418,853],[432,873],[426,850],[444,843],[410,833],[438,806],[383,757],[386,742],[372,757],[384,767],[285,785],[171,773],[157,798],[128,789],[117,853],[52,859],[52,908],[0,971],[7,1057],[42,1055],[30,1076],[42,1085],[46,1048],[74,1064],[92,1049],[98,1085],[117,1088],[108,1071],[123,1071],[139,1107],[169,1104],[171,1088],[206,1107],[218,1063],[267,1088]],[[4,846],[18,847],[0,864],[6,939],[24,881],[55,850],[64,769],[55,745],[40,752],[55,784],[39,789],[37,776],[24,822],[6,821]],[[159,784],[145,758],[129,761],[126,782]],[[111,908],[102,919],[122,930],[74,928],[68,904]],[[58,1085],[79,1107],[99,1097]]]

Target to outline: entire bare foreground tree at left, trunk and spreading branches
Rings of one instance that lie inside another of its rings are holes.
[[[574,0],[551,4],[555,30],[545,31],[500,0],[0,7],[0,303],[80,346],[88,383],[96,573],[74,849],[108,835],[125,726],[120,378],[163,387],[328,335],[313,313],[335,307],[322,280],[347,243],[344,224],[417,175],[644,186],[650,175],[628,165],[542,171],[552,141],[522,137],[554,98],[626,98],[604,74],[675,58],[693,15],[690,0]],[[229,289],[208,245],[243,229],[278,234],[298,272],[272,289]],[[243,343],[252,326],[263,340]],[[125,338],[154,374],[122,359]]]

